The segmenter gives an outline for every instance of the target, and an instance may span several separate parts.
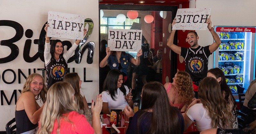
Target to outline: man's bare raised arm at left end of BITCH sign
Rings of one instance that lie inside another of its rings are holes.
[[[174,19],[174,20],[172,21],[172,27],[173,27],[173,25],[176,23],[175,21],[176,21],[176,19]],[[170,36],[169,36],[169,38],[168,38],[168,41],[167,41],[167,46],[168,46],[169,48],[171,48],[172,51],[174,51],[176,54],[179,54],[179,55],[180,55],[180,54],[181,54],[181,47],[178,47],[177,45],[174,45],[174,44],[173,44],[175,32],[176,32],[176,30],[172,30],[172,32],[171,32],[171,34],[170,34]]]

